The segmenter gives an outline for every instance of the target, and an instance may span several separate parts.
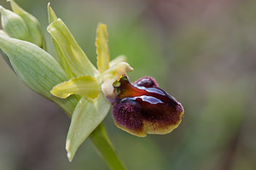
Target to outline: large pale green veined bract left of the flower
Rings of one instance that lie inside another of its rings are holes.
[[[79,101],[77,96],[59,99],[49,93],[56,84],[68,79],[61,65],[50,54],[31,42],[2,35],[0,48],[8,55],[15,72],[27,86],[60,105],[68,116],[72,115],[73,108]]]

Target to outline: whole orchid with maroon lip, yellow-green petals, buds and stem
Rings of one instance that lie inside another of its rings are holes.
[[[111,105],[117,127],[140,137],[170,133],[180,124],[183,106],[159,88],[153,78],[143,77],[131,83],[127,72],[133,69],[123,55],[109,62],[106,25],[97,26],[95,67],[48,4],[47,31],[56,60],[45,51],[38,20],[14,1],[10,3],[14,12],[0,6],[0,48],[22,81],[71,117],[66,141],[69,161],[90,137],[110,168],[124,169],[102,125]]]

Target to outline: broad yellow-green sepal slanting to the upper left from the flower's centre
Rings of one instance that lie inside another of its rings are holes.
[[[90,63],[90,60],[84,54],[84,51],[79,47],[71,32],[61,19],[53,21],[47,28],[47,31],[54,38],[55,42],[61,49],[61,53],[67,60],[67,64],[76,77],[83,75],[97,76],[98,71],[95,66]]]

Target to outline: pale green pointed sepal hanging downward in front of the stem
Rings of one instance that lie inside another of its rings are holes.
[[[110,105],[101,93],[96,100],[82,97],[76,106],[67,133],[66,150],[69,161],[79,149],[79,146],[96,129],[108,114]]]

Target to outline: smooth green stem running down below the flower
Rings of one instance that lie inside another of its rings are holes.
[[[125,170],[123,163],[120,161],[110,139],[108,138],[108,133],[106,132],[103,123],[96,127],[96,129],[90,134],[90,140],[102,155],[102,158],[107,163],[109,169]]]

